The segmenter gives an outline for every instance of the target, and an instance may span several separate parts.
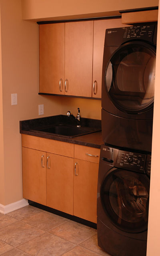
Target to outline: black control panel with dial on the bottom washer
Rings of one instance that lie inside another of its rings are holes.
[[[116,167],[144,173],[146,155],[119,150]]]

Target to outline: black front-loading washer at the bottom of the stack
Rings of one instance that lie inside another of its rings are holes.
[[[101,146],[98,245],[112,256],[146,256],[151,155]]]

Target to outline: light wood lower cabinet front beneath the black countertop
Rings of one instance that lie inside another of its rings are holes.
[[[24,198],[96,223],[99,154],[100,149],[22,134]]]

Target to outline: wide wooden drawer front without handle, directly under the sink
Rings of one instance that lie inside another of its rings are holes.
[[[22,147],[74,158],[74,144],[22,134]]]

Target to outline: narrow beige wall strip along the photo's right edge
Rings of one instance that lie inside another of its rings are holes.
[[[158,14],[160,21],[160,12]],[[160,22],[158,21],[156,81],[152,138],[152,164],[148,220],[147,256],[160,255]]]

